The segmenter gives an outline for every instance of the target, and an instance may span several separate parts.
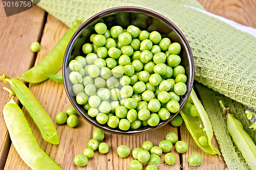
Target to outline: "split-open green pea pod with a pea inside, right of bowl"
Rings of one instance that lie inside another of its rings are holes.
[[[187,130],[189,131],[189,133],[201,150],[203,150],[207,154],[221,155],[220,152],[211,143],[211,139],[214,135],[211,128],[211,123],[206,111],[204,110],[203,105],[197,98],[197,94],[195,93],[194,89],[191,90],[190,99],[195,104],[199,116],[192,116],[190,114],[186,114],[184,110],[180,111],[180,114],[186,124]],[[200,122],[200,119],[202,124]],[[201,140],[201,138],[204,136],[207,138],[206,141]]]

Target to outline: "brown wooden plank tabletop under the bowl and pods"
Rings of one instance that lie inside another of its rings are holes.
[[[256,28],[255,0],[198,1],[209,12]],[[51,15],[48,15],[47,22],[44,23],[44,16],[45,12],[35,7],[18,15],[6,17],[3,6],[0,5],[0,74],[6,73],[12,78],[17,77],[20,73],[41,61],[68,30],[63,23]],[[35,55],[30,51],[29,46],[31,42],[40,39],[42,29],[44,29],[44,32],[42,33],[40,43],[41,49],[34,61]],[[59,71],[59,73],[60,72],[61,71]],[[3,86],[6,85],[0,83],[0,169],[30,169],[19,157],[13,145],[10,147],[10,139],[2,114],[5,101],[8,99],[7,92],[2,90]],[[7,87],[9,87],[9,85],[7,85]],[[134,149],[141,147],[142,143],[146,140],[150,140],[154,145],[158,145],[161,140],[165,139],[168,132],[178,134],[180,140],[188,143],[189,148],[188,151],[182,155],[179,155],[175,151],[175,147],[172,149],[171,153],[174,153],[177,158],[176,164],[184,163],[183,165],[186,165],[183,168],[177,166],[172,169],[195,169],[187,167],[187,158],[193,153],[198,153],[203,157],[202,165],[208,165],[208,167],[198,167],[196,169],[224,169],[223,158],[208,155],[201,151],[184,124],[179,128],[168,124],[153,132],[135,136],[105,133],[105,139],[103,141],[109,144],[109,153],[102,155],[96,151],[94,157],[89,159],[87,166],[78,167],[74,164],[73,159],[77,154],[81,154],[83,150],[87,148],[87,143],[92,138],[92,132],[95,128],[81,117],[79,117],[79,124],[76,128],[70,128],[67,124],[56,124],[56,114],[60,111],[65,111],[67,107],[71,106],[62,83],[47,80],[38,84],[29,84],[29,88],[54,121],[54,125],[59,134],[60,144],[53,145],[44,141],[32,118],[29,116],[26,109],[23,108],[25,116],[28,119],[29,125],[41,149],[63,169],[127,169],[133,157],[132,154],[130,154],[127,158],[120,158],[116,153],[116,149],[119,145],[126,144],[131,149]],[[212,139],[212,143],[219,149],[215,137]],[[7,154],[8,158],[5,162]],[[164,164],[163,158],[164,154],[161,156],[162,164]],[[145,163],[143,169],[145,169]],[[168,168],[161,167],[159,169]]]

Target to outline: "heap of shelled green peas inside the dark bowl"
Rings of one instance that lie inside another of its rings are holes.
[[[67,76],[75,101],[90,107],[86,110],[99,125],[122,131],[155,127],[179,111],[187,79],[178,42],[157,31],[102,22],[89,37],[81,47],[83,54],[69,62]],[[173,125],[180,126],[176,119]]]

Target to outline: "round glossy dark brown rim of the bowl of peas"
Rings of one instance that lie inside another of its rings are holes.
[[[71,47],[73,46],[75,40],[80,36],[83,29],[86,28],[87,26],[89,26],[91,24],[91,22],[93,22],[94,20],[96,20],[100,17],[103,17],[103,16],[108,15],[108,14],[112,14],[112,13],[115,13],[115,12],[141,12],[141,13],[145,13],[145,14],[148,14],[148,15],[151,15],[151,16],[154,16],[154,17],[158,18],[159,20],[166,23],[166,25],[168,25],[170,28],[172,28],[176,32],[176,34],[179,36],[179,38],[182,41],[182,43],[185,47],[185,50],[187,52],[189,72],[190,72],[190,75],[189,75],[189,78],[188,78],[189,83],[188,83],[188,86],[187,86],[188,87],[187,88],[187,95],[185,96],[185,98],[183,98],[183,101],[180,105],[179,111],[177,113],[175,113],[172,117],[168,118],[167,120],[158,124],[155,127],[145,128],[143,130],[134,130],[134,131],[117,131],[116,129],[110,129],[108,127],[99,126],[90,117],[88,117],[86,114],[84,114],[83,111],[81,111],[81,109],[74,102],[74,100],[72,98],[72,95],[70,94],[70,91],[69,91],[69,88],[68,88],[68,82],[67,82],[67,79],[66,79],[66,76],[67,76],[66,65],[67,65],[68,58],[69,58],[70,53],[71,53]],[[172,21],[170,21],[168,18],[166,18],[165,16],[163,16],[163,15],[161,15],[161,14],[159,14],[159,13],[153,11],[153,10],[146,9],[146,8],[141,8],[141,7],[135,7],[135,6],[122,6],[122,7],[109,8],[109,9],[103,10],[103,11],[91,16],[89,19],[84,21],[82,23],[82,25],[75,31],[75,33],[71,37],[71,39],[68,43],[68,46],[66,48],[65,55],[64,55],[64,58],[63,58],[63,64],[62,64],[63,84],[65,86],[66,93],[68,94],[69,101],[71,102],[73,107],[76,109],[78,114],[81,117],[83,117],[83,119],[85,119],[88,123],[95,126],[96,128],[99,128],[99,129],[101,129],[105,132],[109,132],[109,133],[112,133],[112,134],[119,134],[119,135],[137,135],[137,134],[147,133],[147,132],[153,131],[157,128],[163,127],[164,125],[169,123],[170,120],[172,120],[177,114],[179,114],[180,110],[182,109],[185,102],[187,101],[188,96],[189,96],[189,94],[191,92],[191,89],[193,87],[194,75],[195,75],[195,66],[194,66],[193,54],[191,52],[191,48],[190,48],[185,36],[179,30],[179,28],[176,25],[174,25],[174,23]]]

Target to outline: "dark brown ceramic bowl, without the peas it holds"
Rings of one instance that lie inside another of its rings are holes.
[[[75,100],[75,95],[72,92],[73,84],[69,81],[68,75],[70,69],[68,68],[69,62],[73,60],[76,56],[83,56],[86,57],[82,50],[81,46],[84,43],[90,42],[90,35],[93,34],[94,30],[93,27],[98,22],[104,22],[108,29],[112,26],[121,26],[124,29],[127,26],[134,25],[139,27],[140,30],[147,30],[148,32],[158,31],[162,34],[162,37],[168,37],[172,42],[179,42],[181,44],[181,52],[179,56],[181,57],[181,65],[184,66],[186,70],[187,76],[187,91],[186,93],[181,96],[180,100],[180,110],[183,107],[184,103],[186,102],[191,88],[193,86],[194,81],[194,61],[193,56],[191,53],[191,49],[189,44],[182,34],[182,32],[174,25],[166,17],[158,14],[157,12],[139,8],[139,7],[116,7],[107,9],[105,11],[99,12],[96,15],[89,18],[85,21],[75,32],[73,37],[71,38],[63,61],[63,81],[65,85],[66,92],[68,94],[68,98],[74,108],[77,110],[78,114],[82,116],[87,122],[92,124],[93,126],[102,129],[103,131],[115,134],[122,134],[122,135],[134,135],[134,134],[141,134],[150,132],[154,129],[160,128],[170,122],[178,113],[172,114],[167,120],[160,120],[160,123],[155,127],[146,126],[141,127],[139,129],[133,130],[129,129],[128,131],[122,131],[118,128],[113,129],[110,128],[108,125],[101,125],[99,124],[95,118],[92,118],[88,115],[87,111],[83,109],[83,106],[78,105]]]

